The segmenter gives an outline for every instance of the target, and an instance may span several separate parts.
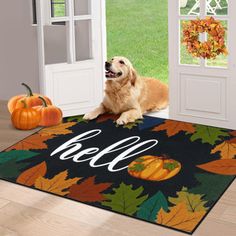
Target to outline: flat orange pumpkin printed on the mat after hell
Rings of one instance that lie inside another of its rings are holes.
[[[139,179],[162,181],[172,178],[181,170],[178,161],[167,157],[143,156],[131,162],[128,173]]]

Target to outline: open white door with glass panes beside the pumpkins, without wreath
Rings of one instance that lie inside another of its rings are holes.
[[[64,116],[84,114],[103,96],[103,0],[37,0],[41,93]]]

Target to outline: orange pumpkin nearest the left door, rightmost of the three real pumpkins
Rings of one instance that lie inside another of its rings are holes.
[[[54,126],[60,124],[62,121],[61,109],[53,105],[47,105],[46,100],[43,97],[39,97],[39,99],[41,99],[43,105],[34,107],[34,109],[39,111],[41,114],[39,125]]]

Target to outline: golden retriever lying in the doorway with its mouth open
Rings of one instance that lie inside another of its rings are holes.
[[[165,109],[169,103],[168,86],[153,78],[141,77],[125,57],[114,57],[105,64],[106,88],[103,102],[84,116],[93,120],[104,113],[121,114],[118,125],[142,119],[149,111]]]

